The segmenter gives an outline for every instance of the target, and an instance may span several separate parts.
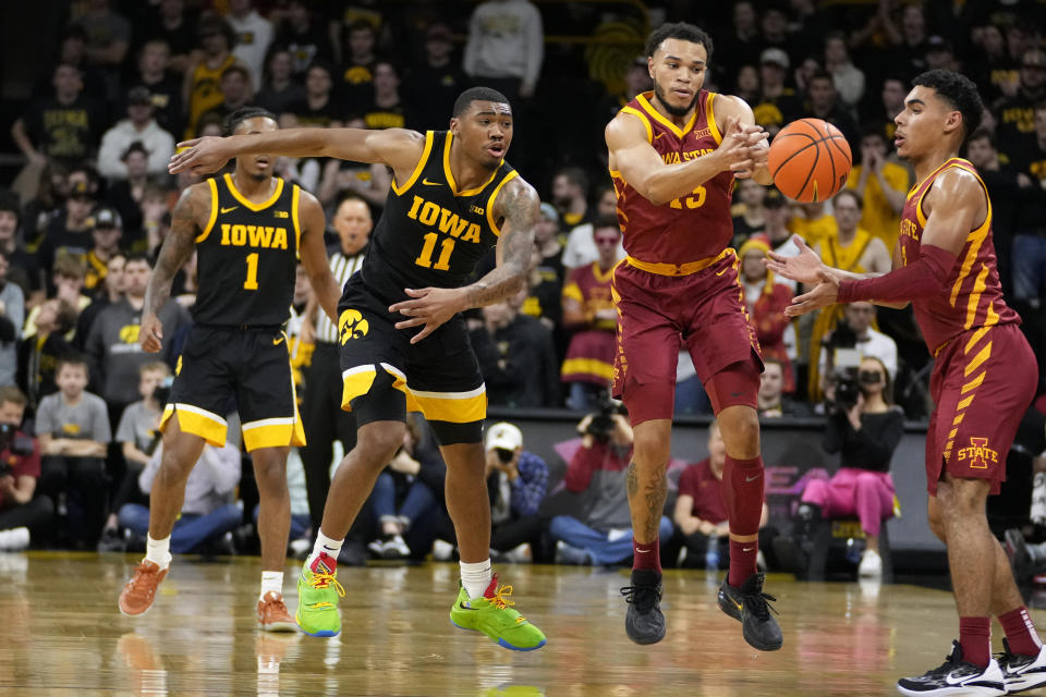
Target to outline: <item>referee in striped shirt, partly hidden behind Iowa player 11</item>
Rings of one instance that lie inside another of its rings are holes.
[[[345,194],[338,204],[333,218],[339,248],[330,256],[330,271],[344,288],[345,281],[363,266],[370,230],[370,209],[354,193]],[[341,364],[338,360],[338,328],[326,313],[319,311],[315,296],[305,310],[303,340],[312,332],[316,339],[313,362],[305,368],[305,394],[302,401],[302,420],[305,427],[305,448],[301,450],[305,468],[305,489],[313,530],[319,530],[324,504],[330,489],[330,461],[335,440],[340,440],[345,454],[356,444],[356,424],[349,412],[341,408]],[[346,540],[348,541],[348,540]]]

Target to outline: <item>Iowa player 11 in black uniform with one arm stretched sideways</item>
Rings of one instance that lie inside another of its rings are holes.
[[[451,621],[506,648],[531,650],[545,635],[513,610],[490,572],[490,508],[482,426],[486,393],[461,311],[520,290],[534,246],[538,198],[504,155],[512,109],[500,93],[474,87],[458,98],[450,130],[301,129],[203,138],[170,170],[210,172],[231,157],[275,152],[337,157],[392,169],[392,189],[361,273],[339,303],[342,404],[357,425],[356,447],[330,486],[312,555],[299,580],[299,624],[318,636],[341,628],[335,560],[381,469],[423,412],[447,461],[447,506],[462,560]],[[497,245],[498,266],[465,285]]]

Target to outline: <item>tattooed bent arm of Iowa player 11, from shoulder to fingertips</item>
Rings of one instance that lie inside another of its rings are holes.
[[[408,318],[397,322],[396,328],[424,326],[411,339],[411,343],[416,344],[458,313],[492,305],[519,292],[526,282],[539,206],[537,192],[523,180],[516,178],[506,184],[492,211],[496,219],[504,221],[498,239],[498,266],[475,283],[462,288],[404,289],[411,299],[389,307],[390,313],[400,313]]]

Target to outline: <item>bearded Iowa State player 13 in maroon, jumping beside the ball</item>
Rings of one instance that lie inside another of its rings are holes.
[[[658,524],[676,363],[685,344],[727,445],[730,573],[719,607],[741,621],[749,644],[770,651],[781,648],[781,629],[755,562],[763,511],[756,415],[763,362],[738,283],[737,254],[727,245],[734,180],[771,179],[766,134],[754,125],[749,106],[702,89],[711,52],[711,39],[697,27],[660,26],[646,44],[654,91],[632,100],[606,130],[629,255],[612,284],[620,315],[613,389],[635,436],[628,474],[634,561],[632,585],[622,589],[624,628],[636,644],[665,636]]]

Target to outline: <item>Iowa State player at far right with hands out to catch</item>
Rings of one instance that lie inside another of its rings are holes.
[[[937,407],[926,433],[929,526],[948,547],[959,641],[941,667],[900,680],[905,695],[1002,695],[1046,683],[1046,651],[985,516],[1038,375],[1021,318],[1002,298],[987,189],[957,157],[983,109],[976,86],[958,73],[935,70],[915,78],[896,119],[896,143],[920,183],[908,195],[892,271],[871,278],[829,269],[801,242],[801,256],[768,262],[788,278],[817,283],[794,298],[789,315],[836,302],[911,302],[935,357]],[[999,661],[990,655],[993,614],[1007,637]]]

